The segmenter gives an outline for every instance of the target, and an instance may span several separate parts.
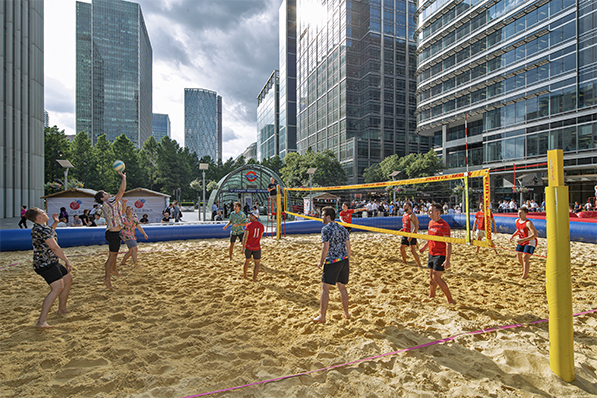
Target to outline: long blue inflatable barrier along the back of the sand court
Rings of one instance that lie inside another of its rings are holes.
[[[418,216],[421,230],[427,228],[429,223],[428,216]],[[453,229],[466,228],[466,215],[464,214],[445,214],[442,218]],[[539,236],[546,237],[546,222],[541,219],[531,219]],[[471,228],[474,222],[474,216],[469,219]],[[512,234],[516,226],[514,217],[495,217],[498,233]],[[402,217],[366,217],[353,218],[356,225],[364,225],[391,230],[402,228]],[[230,236],[230,229],[223,230],[223,224],[191,224],[191,225],[147,225],[143,229],[149,235],[146,241],[143,235],[136,232],[139,242],[163,242],[170,240],[189,240],[189,239],[221,239]],[[286,223],[286,234],[315,234],[320,233],[323,224],[321,221],[303,220]],[[353,230],[358,230],[354,228]],[[58,243],[61,247],[73,246],[91,246],[107,244],[104,233],[105,228],[59,228]],[[587,221],[570,221],[570,240],[585,243],[597,243],[597,223]],[[0,230],[0,251],[22,251],[31,250],[31,230],[27,229],[4,229]]]

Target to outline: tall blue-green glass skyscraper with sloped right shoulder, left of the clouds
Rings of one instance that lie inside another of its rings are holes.
[[[151,43],[141,7],[122,0],[77,2],[77,131],[93,143],[152,134]]]

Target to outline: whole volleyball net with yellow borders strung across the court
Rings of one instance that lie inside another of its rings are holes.
[[[331,206],[336,210],[336,221],[355,230],[455,244],[492,246],[489,169],[370,184],[284,188],[283,198],[285,214],[296,219],[322,221],[322,209]],[[419,219],[417,233],[403,229],[403,205],[406,202],[413,205],[413,212]],[[459,219],[465,228],[456,234],[452,233],[451,237],[421,233],[421,230],[427,230],[427,213],[432,203],[448,207],[448,212],[455,216],[461,214]],[[348,217],[346,213],[340,217],[343,204],[347,204],[352,210],[347,212],[351,213]],[[471,231],[470,214],[473,210],[480,209],[484,213],[484,241],[474,240]]]

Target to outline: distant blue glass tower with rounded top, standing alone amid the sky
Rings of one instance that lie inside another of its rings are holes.
[[[184,142],[199,158],[222,159],[222,97],[215,91],[184,89]]]

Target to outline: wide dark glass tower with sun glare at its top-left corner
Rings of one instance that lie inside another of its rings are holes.
[[[331,149],[349,181],[386,156],[426,152],[414,134],[415,4],[297,0],[297,148]]]

